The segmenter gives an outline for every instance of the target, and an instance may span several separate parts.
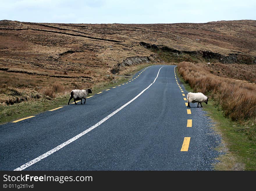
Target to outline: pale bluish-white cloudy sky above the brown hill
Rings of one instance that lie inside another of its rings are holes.
[[[0,0],[4,19],[85,24],[256,20],[256,0]]]

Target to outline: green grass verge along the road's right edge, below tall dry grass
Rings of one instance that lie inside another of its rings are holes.
[[[182,76],[176,73],[187,91],[193,92]],[[222,145],[217,148],[226,154],[220,155],[220,163],[215,165],[216,170],[256,170],[256,127],[253,120],[235,122],[224,117],[217,102],[210,99],[203,107],[211,119],[216,122],[214,130],[222,137]]]

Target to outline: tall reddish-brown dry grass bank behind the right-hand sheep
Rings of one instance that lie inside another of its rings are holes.
[[[256,84],[216,76],[207,71],[204,64],[182,62],[177,68],[195,92],[216,100],[226,117],[256,121]]]

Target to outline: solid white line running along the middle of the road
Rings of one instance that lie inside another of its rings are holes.
[[[164,67],[164,66],[162,66]],[[162,68],[161,67],[161,68]],[[153,83],[155,83],[155,81],[158,78],[159,72],[161,70],[161,68],[158,70],[157,73],[157,77],[154,79]],[[113,115],[115,115],[116,113],[118,113],[118,111],[120,111],[121,109],[125,108],[127,105],[129,105],[131,102],[133,102],[135,99],[137,99],[141,94],[143,94],[143,92],[145,92],[148,88],[150,88],[150,86],[153,84],[151,83],[147,88],[145,88],[144,90],[142,90],[136,97],[134,97],[133,99],[131,99],[130,101],[128,101],[127,103],[125,103],[123,106],[121,106],[120,108],[118,108],[117,110],[115,110],[114,112],[112,112],[111,114],[109,114],[107,117],[103,118],[101,121],[99,121],[98,123],[96,123],[95,125],[91,126],[90,128],[86,129],[85,131],[83,131],[82,133],[79,133],[78,135],[74,136],[73,138],[67,140],[66,142],[58,145],[57,147],[51,149],[50,151],[38,156],[37,158],[29,161],[28,163],[14,169],[15,171],[18,170],[24,170],[27,167],[39,162],[40,160],[46,158],[47,156],[51,155],[52,153],[55,153],[56,151],[60,150],[61,148],[65,147],[66,145],[70,144],[71,142],[77,140],[78,138],[80,138],[81,136],[85,135],[86,133],[90,132],[91,130],[93,130],[94,128],[96,128],[97,126],[99,126],[100,124],[102,124],[103,122],[105,122],[107,119],[109,119],[110,117],[112,117]]]

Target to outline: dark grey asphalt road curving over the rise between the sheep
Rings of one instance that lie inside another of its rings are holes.
[[[220,137],[197,103],[187,113],[174,69],[147,67],[85,105],[1,125],[0,170],[212,170]]]

